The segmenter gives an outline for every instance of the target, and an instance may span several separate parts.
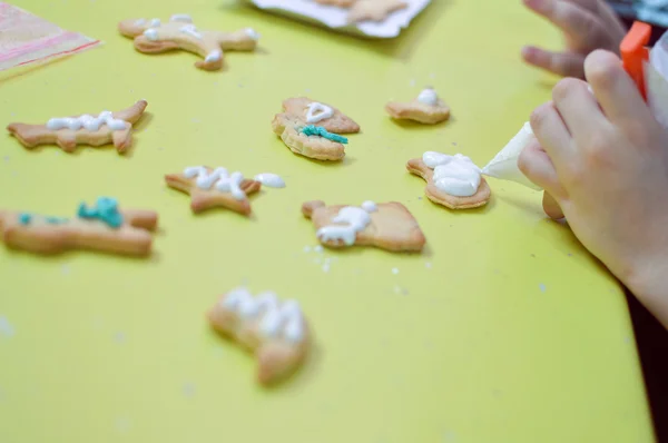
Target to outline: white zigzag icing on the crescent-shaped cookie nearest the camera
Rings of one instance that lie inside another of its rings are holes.
[[[263,293],[254,298],[246,288],[237,288],[227,294],[223,306],[244,319],[259,316],[259,331],[266,337],[276,338],[283,335],[292,343],[304,339],[304,319],[296,301],[279,304],[274,293]]]

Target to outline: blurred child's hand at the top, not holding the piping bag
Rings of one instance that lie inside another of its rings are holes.
[[[584,58],[596,49],[618,52],[626,36],[623,24],[603,0],[523,1],[563,31],[566,51],[550,52],[529,46],[522,49],[522,57],[559,76],[584,78]]]

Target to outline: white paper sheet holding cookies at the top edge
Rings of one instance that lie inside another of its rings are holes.
[[[341,32],[370,38],[391,39],[407,28],[411,21],[431,0],[406,0],[409,7],[387,16],[385,21],[371,21],[350,24],[346,21],[347,9],[334,6],[322,6],[313,0],[245,0],[256,7],[294,19],[307,20]]]

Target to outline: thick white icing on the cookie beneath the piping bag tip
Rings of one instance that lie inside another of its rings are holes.
[[[422,161],[434,170],[434,186],[455,197],[471,197],[478,193],[481,169],[466,156],[449,156],[428,151]]]

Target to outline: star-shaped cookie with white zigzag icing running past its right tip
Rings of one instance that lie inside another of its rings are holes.
[[[274,187],[281,187],[276,177],[267,177],[267,180],[272,180]],[[247,196],[262,187],[261,181],[245,179],[242,173],[228,174],[225,168],[212,169],[206,166],[193,166],[183,174],[166,175],[165,181],[169,187],[190,195],[190,208],[195,214],[224,207],[248,216],[250,203]]]

